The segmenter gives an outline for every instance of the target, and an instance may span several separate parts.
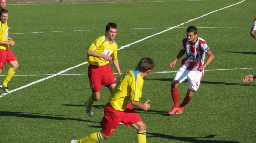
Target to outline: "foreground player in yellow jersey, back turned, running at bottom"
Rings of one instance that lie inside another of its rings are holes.
[[[121,74],[117,79],[117,85],[113,89],[113,93],[109,97],[110,102],[105,105],[104,117],[100,122],[102,130],[80,140],[71,140],[70,143],[92,143],[108,139],[120,122],[126,124],[126,126],[134,127],[137,130],[137,142],[145,143],[146,124],[129,102],[145,111],[150,108],[150,104],[147,104],[150,100],[142,104],[140,98],[144,83],[143,78],[150,74],[154,66],[153,59],[146,57],[140,60],[136,70]]]

